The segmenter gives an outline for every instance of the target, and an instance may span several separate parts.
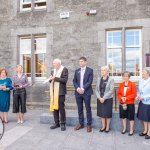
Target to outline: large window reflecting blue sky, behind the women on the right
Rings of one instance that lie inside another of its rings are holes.
[[[133,76],[140,76],[141,45],[141,29],[107,31],[107,65],[110,75],[121,76],[126,70]]]

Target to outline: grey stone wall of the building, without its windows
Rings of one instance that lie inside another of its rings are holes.
[[[59,57],[69,69],[68,85],[72,85],[80,56],[86,56],[88,65],[94,69],[95,84],[100,66],[106,64],[107,28],[142,27],[145,65],[145,53],[150,52],[149,0],[47,0],[47,10],[31,12],[20,12],[18,1],[1,0],[0,4],[0,68],[8,68],[9,76],[14,74],[18,64],[17,36],[42,32],[48,39],[47,76],[52,60]],[[96,9],[97,14],[87,16],[90,9]],[[59,14],[63,11],[69,11],[70,18],[60,19]],[[29,89],[28,100],[48,101],[49,97],[45,95],[48,89],[48,85],[35,83]],[[73,92],[69,93],[67,101],[74,101]]]

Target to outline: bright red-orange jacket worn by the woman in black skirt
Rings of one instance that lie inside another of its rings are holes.
[[[125,85],[125,82],[121,83],[118,89],[118,98],[119,98],[120,103],[123,103],[121,98],[124,96],[124,85]],[[128,88],[126,91],[125,103],[134,104],[135,97],[136,97],[136,85],[133,82],[128,81]]]

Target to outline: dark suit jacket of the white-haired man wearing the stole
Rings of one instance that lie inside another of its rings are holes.
[[[68,81],[68,69],[64,67],[60,78],[55,77],[54,82],[60,82],[59,85],[59,95],[65,95],[67,93],[67,81]]]

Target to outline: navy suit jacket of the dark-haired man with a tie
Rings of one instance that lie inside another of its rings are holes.
[[[81,68],[77,69],[74,74],[73,84],[75,87],[75,94],[79,95],[79,93],[76,91],[78,87],[80,87],[80,71]],[[84,79],[83,79],[83,88],[84,88],[84,94],[92,95],[93,89],[92,89],[92,82],[93,82],[93,69],[86,67],[85,73],[84,73]]]

